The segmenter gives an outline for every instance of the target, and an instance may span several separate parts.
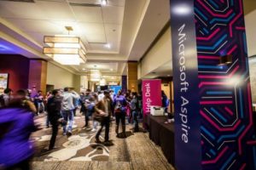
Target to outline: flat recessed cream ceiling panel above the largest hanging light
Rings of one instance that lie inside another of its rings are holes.
[[[82,6],[84,4],[98,6]],[[118,53],[125,0],[108,0],[106,6],[100,4],[99,0],[1,1],[0,16],[41,45],[44,45],[44,35],[67,34],[65,26],[73,26],[71,34],[82,38],[89,53]],[[106,43],[111,44],[111,49],[104,47]]]

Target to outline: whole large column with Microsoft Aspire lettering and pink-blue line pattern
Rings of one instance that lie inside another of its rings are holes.
[[[255,170],[242,0],[170,1],[176,168]]]

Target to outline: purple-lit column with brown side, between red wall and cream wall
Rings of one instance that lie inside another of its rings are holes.
[[[30,59],[28,88],[42,90],[46,93],[47,61]],[[53,73],[54,74],[54,73]]]

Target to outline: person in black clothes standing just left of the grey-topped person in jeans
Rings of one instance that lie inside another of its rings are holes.
[[[59,120],[61,118],[61,94],[58,89],[52,91],[52,96],[47,100],[47,112],[49,122],[52,126],[49,150],[55,146],[55,139],[58,134]]]

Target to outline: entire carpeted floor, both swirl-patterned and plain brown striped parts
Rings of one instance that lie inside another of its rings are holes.
[[[94,143],[96,132],[82,128],[84,116],[76,116],[74,120],[71,137],[62,136],[60,128],[55,144],[57,150],[51,152],[46,150],[50,128],[32,134],[32,138],[36,140],[32,169],[174,169],[166,161],[160,147],[148,138],[148,133],[131,133],[131,125],[128,125],[126,126],[128,137],[119,139],[115,136],[112,123],[109,135],[113,145],[106,147]],[[39,122],[45,122],[45,116],[39,118]]]

